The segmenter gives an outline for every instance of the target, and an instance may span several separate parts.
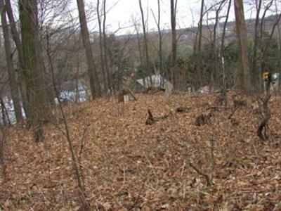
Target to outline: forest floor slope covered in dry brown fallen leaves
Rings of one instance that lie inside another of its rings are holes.
[[[254,98],[240,96],[247,105],[229,119],[232,95],[202,126],[195,119],[211,112],[214,95],[174,94],[167,104],[163,93],[138,94],[128,103],[101,98],[66,106],[91,210],[281,210],[281,98],[270,98],[270,138],[261,141]],[[166,117],[147,125],[148,109]],[[4,131],[0,210],[81,208],[61,131],[63,124],[44,125],[40,143],[22,125]]]

